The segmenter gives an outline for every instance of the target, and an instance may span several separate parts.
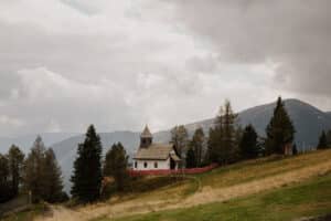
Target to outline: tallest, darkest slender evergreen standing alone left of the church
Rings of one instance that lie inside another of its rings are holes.
[[[93,202],[100,197],[102,141],[93,125],[87,129],[85,140],[78,145],[74,162],[72,196],[82,202]]]

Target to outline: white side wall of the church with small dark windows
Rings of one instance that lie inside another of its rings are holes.
[[[170,158],[167,160],[135,159],[134,170],[170,169]]]

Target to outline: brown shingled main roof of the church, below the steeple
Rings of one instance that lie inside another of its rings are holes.
[[[147,148],[139,148],[134,159],[159,159],[166,160],[171,157],[178,161],[180,158],[173,150],[173,145],[169,144],[152,144]]]

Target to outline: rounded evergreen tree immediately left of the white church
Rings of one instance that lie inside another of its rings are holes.
[[[104,176],[113,177],[117,190],[122,191],[127,180],[128,156],[124,146],[114,144],[106,154]]]

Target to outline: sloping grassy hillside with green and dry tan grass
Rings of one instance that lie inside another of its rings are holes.
[[[36,220],[292,220],[331,212],[331,150],[268,157],[184,179],[148,177],[108,201]],[[68,218],[70,217],[70,218]]]

